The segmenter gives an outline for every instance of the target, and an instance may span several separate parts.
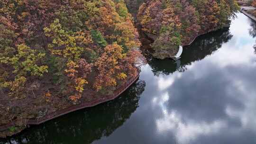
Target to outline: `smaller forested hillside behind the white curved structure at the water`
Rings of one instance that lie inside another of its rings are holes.
[[[228,26],[237,10],[235,0],[146,0],[137,18],[154,40],[154,57],[164,59],[195,36]]]

